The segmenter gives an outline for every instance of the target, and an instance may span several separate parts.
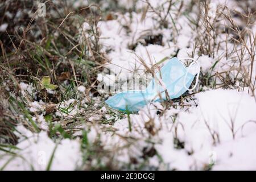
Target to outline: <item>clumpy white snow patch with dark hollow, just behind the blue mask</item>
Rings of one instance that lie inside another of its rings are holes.
[[[106,65],[113,73],[123,73],[133,75],[134,71],[142,73],[143,68],[139,57],[141,57],[148,66],[157,63],[164,57],[170,56],[174,52],[172,42],[166,43],[164,46],[149,44],[142,46],[139,42],[144,42],[143,38],[151,35],[163,34],[164,40],[170,39],[170,31],[167,29],[159,29],[158,21],[153,20],[153,14],[149,15],[143,21],[139,18],[142,14],[132,13],[118,16],[118,19],[109,20],[98,23],[101,31],[100,42],[104,46],[104,50],[111,50],[108,57],[110,64]],[[125,25],[129,23],[131,32],[127,33]],[[168,34],[166,34],[168,32]],[[135,50],[129,49],[129,46],[138,44]]]

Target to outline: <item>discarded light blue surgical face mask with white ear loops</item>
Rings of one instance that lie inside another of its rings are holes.
[[[181,59],[191,59],[193,62],[189,67],[185,67],[180,61]],[[173,57],[168,60],[168,63],[160,69],[160,72],[155,74],[145,90],[119,92],[109,97],[105,101],[106,104],[117,110],[138,111],[149,102],[177,98],[187,90],[195,89],[199,79],[200,63],[190,57],[181,59]],[[196,75],[196,85],[192,89],[188,89]]]

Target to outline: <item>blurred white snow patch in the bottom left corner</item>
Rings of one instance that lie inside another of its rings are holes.
[[[56,147],[51,170],[75,170],[79,160],[81,160],[80,143],[77,140],[63,139],[59,144],[54,143],[46,132],[32,134],[27,129],[22,128],[23,133],[30,134],[30,138],[18,143],[16,147],[18,155],[4,156],[0,160],[3,166],[9,159],[10,162],[5,170],[46,170],[49,159]],[[63,152],[65,151],[65,152]]]

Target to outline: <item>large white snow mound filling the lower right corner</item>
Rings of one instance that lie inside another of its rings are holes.
[[[229,162],[229,160],[234,160],[235,156],[226,158],[222,156],[230,150],[234,154],[238,152],[238,155],[241,155],[242,148],[229,148],[229,150],[220,148],[228,148],[225,146],[226,143],[237,145],[237,140],[243,140],[244,143],[247,143],[245,146],[248,151],[246,152],[247,160],[243,161],[250,163],[251,160],[254,160],[255,156],[250,150],[252,147],[255,148],[254,142],[251,142],[251,135],[256,132],[256,125],[251,122],[256,121],[254,98],[245,92],[223,89],[209,90],[196,94],[195,97],[198,100],[198,106],[189,109],[189,113],[179,113],[177,119],[183,125],[183,130],[180,130],[178,134],[179,138],[185,142],[185,150],[193,151],[191,157],[195,158],[197,162],[201,161],[203,166],[208,163],[209,152],[214,151],[217,158],[214,168],[233,169],[233,166],[236,166],[239,169],[238,163]],[[233,130],[230,128],[232,123],[234,124]],[[214,139],[210,133],[216,134]],[[256,166],[249,168],[256,168]]]

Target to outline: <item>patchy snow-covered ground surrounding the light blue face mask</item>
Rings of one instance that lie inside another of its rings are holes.
[[[240,9],[234,1],[225,2],[230,8]],[[210,4],[208,23],[216,27],[225,24],[222,19],[216,21],[222,3],[212,1]],[[78,6],[79,1],[75,5]],[[129,0],[120,1],[119,5],[126,9],[134,6]],[[101,51],[109,60],[104,71],[98,73],[98,81],[112,86],[127,76],[144,73],[145,67],[152,68],[159,61],[162,66],[167,62],[164,59],[173,56],[199,60],[201,77],[212,80],[201,79],[197,88],[189,92],[190,96],[174,102],[172,106],[155,102],[124,117],[119,117],[118,111],[113,111],[114,116],[110,115],[108,111],[111,109],[98,97],[93,98],[100,106],[98,114],[89,115],[87,123],[79,127],[86,130],[87,145],[93,148],[100,143],[106,156],[92,157],[89,164],[84,161],[89,150],[82,147],[81,130],[73,134],[78,137],[53,141],[48,137],[49,127],[44,115],[37,115],[32,119],[40,124],[42,131],[32,133],[18,125],[16,129],[20,138],[16,147],[19,150],[12,150],[17,155],[0,153],[0,167],[6,170],[44,170],[53,156],[52,170],[81,169],[81,166],[83,169],[86,165],[97,168],[109,164],[114,169],[139,169],[139,166],[153,170],[256,169],[256,100],[250,86],[242,84],[243,76],[251,69],[249,53],[245,54],[243,63],[237,61],[234,43],[226,41],[230,40],[226,33],[210,31],[209,34],[216,37],[209,39],[208,43],[217,46],[212,46],[206,55],[205,22],[201,20],[197,26],[192,23],[198,10],[197,6],[190,10],[187,1],[175,2],[168,14],[169,4],[164,0],[138,1],[135,7],[137,11],[116,12],[113,13],[116,19],[101,20],[97,24],[101,33]],[[254,36],[255,30],[255,26],[251,27]],[[87,22],[84,23],[84,31],[93,39]],[[200,41],[205,47],[195,47]],[[241,47],[238,45],[236,48]],[[184,64],[188,63],[184,61]],[[243,69],[238,71],[236,68]],[[255,78],[255,65],[252,69],[251,77]],[[235,84],[231,84],[233,82]],[[24,96],[35,90],[24,83],[20,83],[20,88]],[[83,98],[85,90],[84,86],[78,86],[77,96]],[[106,98],[109,93],[101,96]],[[75,99],[64,101],[61,107],[74,105],[68,113],[57,110],[55,115],[69,118],[83,113],[87,102],[84,97],[80,103],[84,107],[79,107],[74,104]],[[28,104],[31,112],[45,108],[44,102]],[[115,122],[103,125],[99,122],[102,115]]]

